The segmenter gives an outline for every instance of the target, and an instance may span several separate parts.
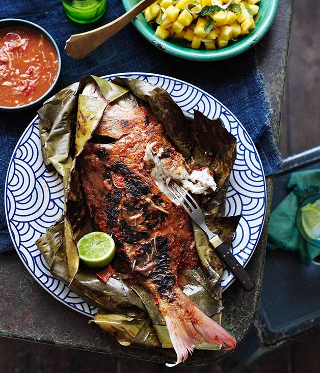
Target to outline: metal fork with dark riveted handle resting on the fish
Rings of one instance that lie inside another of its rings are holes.
[[[188,193],[188,191],[173,180],[171,180],[169,185],[165,183],[165,186],[179,201],[180,205],[190,215],[191,219],[207,234],[210,244],[221,256],[221,259],[225,262],[234,277],[242,284],[245,291],[250,292],[255,286],[254,281],[244,267],[236,260],[231,250],[221,240],[221,238],[215,233],[212,233],[207,227],[202,210],[195,199]]]

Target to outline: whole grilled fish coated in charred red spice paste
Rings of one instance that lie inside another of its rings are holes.
[[[95,88],[84,94],[99,98]],[[176,363],[192,353],[198,333],[206,342],[233,349],[235,339],[179,287],[179,276],[197,268],[199,259],[189,215],[159,189],[144,162],[150,142],[164,149],[164,158],[174,152],[162,124],[147,108],[124,97],[106,107],[95,136],[116,141],[89,143],[79,156],[89,211],[99,231],[113,234],[118,271],[141,283],[158,304]]]

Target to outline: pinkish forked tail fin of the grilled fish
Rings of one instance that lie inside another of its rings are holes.
[[[222,326],[202,312],[180,289],[177,293],[177,301],[167,303],[164,312],[161,309],[177,354],[177,361],[167,366],[186,360],[188,354],[194,351],[195,341],[201,342],[199,335],[205,342],[220,345],[226,350],[235,348],[236,340]]]

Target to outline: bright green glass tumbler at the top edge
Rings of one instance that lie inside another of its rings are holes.
[[[106,0],[62,0],[67,16],[78,23],[99,19],[106,9]]]

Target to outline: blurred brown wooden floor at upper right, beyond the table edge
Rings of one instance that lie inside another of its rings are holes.
[[[320,2],[296,0],[280,128],[283,157],[320,144]]]

